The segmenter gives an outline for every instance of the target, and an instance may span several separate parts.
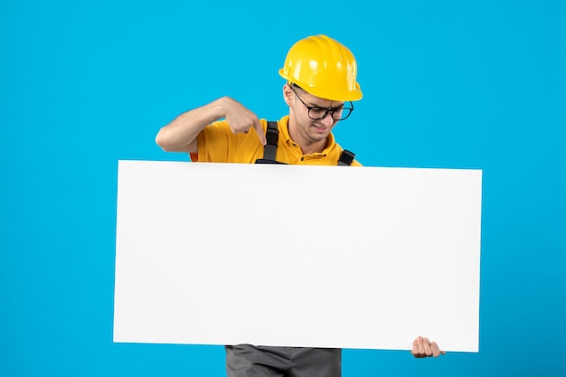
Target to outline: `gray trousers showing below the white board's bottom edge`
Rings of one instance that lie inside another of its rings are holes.
[[[226,345],[228,377],[341,377],[340,348]]]

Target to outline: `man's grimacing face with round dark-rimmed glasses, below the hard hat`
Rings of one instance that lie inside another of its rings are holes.
[[[291,137],[297,143],[306,143],[307,145],[326,140],[332,128],[338,123],[338,120],[334,118],[341,117],[341,111],[338,108],[342,108],[344,102],[321,99],[290,85],[284,87],[283,93],[289,106],[289,132]],[[334,118],[333,114],[328,112],[325,118],[313,119],[324,116],[326,109],[335,110]]]

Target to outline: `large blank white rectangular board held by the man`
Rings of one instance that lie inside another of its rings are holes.
[[[477,352],[481,171],[119,161],[114,341]]]

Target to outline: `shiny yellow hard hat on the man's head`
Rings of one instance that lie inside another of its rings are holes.
[[[338,101],[362,99],[356,73],[354,54],[344,44],[322,34],[296,42],[279,70],[283,79],[313,96]]]

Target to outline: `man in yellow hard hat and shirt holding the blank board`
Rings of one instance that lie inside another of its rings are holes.
[[[289,113],[278,120],[277,130],[268,130],[268,121],[240,102],[222,97],[175,118],[160,129],[156,143],[201,162],[255,163],[267,158],[299,165],[338,165],[345,160],[345,165],[359,166],[353,156],[344,159],[332,134],[338,121],[354,110],[352,101],[362,99],[356,73],[354,55],[343,44],[325,35],[307,37],[291,47],[279,70],[286,80],[283,99]],[[273,132],[278,135],[275,141]],[[411,353],[436,357],[443,352],[419,336]],[[341,350],[227,345],[226,368],[229,377],[339,377]]]

